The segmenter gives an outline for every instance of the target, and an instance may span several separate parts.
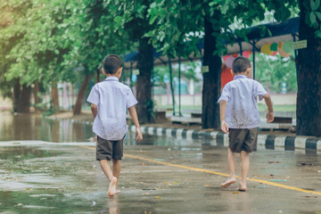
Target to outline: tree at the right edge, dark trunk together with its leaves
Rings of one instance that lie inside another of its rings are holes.
[[[284,21],[292,11],[300,10],[300,40],[307,48],[298,50],[297,128],[299,136],[321,136],[321,5],[319,0],[263,1],[268,11],[274,11],[276,21]]]

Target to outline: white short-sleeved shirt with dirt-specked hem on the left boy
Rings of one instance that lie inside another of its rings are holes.
[[[126,111],[135,105],[136,97],[130,88],[116,77],[95,84],[87,102],[97,106],[93,131],[106,140],[121,140],[127,133]]]

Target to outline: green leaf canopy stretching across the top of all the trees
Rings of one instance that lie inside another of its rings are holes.
[[[316,26],[321,21],[320,0],[304,1],[309,7],[307,19]],[[142,37],[173,57],[198,54],[205,17],[219,32],[218,40],[230,37],[233,42],[235,36],[247,38],[246,30],[235,29],[265,20],[267,11],[275,11],[271,16],[283,21],[292,16],[290,8],[296,4],[292,0],[1,1],[0,70],[8,80],[22,73],[26,77],[22,81],[75,81],[82,72],[95,72],[105,54],[136,50]]]

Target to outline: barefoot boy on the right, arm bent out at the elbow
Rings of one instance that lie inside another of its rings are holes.
[[[227,164],[229,177],[221,184],[227,188],[235,183],[235,152],[240,153],[242,177],[238,187],[246,191],[246,177],[250,169],[250,152],[257,151],[259,130],[259,111],[257,97],[264,98],[268,106],[267,121],[274,119],[270,95],[257,81],[251,79],[251,63],[246,57],[240,56],[232,65],[235,78],[224,86],[218,99],[221,129],[228,134],[229,144]]]

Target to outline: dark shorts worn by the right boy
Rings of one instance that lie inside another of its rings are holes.
[[[259,128],[229,128],[228,147],[232,152],[256,152]]]

